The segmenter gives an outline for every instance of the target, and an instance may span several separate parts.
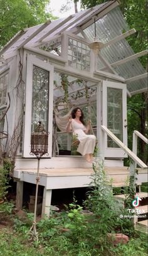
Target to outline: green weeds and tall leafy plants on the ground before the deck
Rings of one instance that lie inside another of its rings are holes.
[[[14,232],[11,230],[8,235],[5,231],[0,231],[0,255],[147,255],[145,235],[134,232],[130,218],[119,217],[120,214],[127,215],[127,210],[121,208],[114,200],[112,186],[105,176],[103,164],[96,161],[93,170],[90,185],[94,188],[88,193],[84,203],[91,214],[87,215],[86,211],[84,214],[82,206],[77,204],[74,197],[73,203],[66,206],[66,211],[55,213],[50,218],[45,216],[38,221],[39,242],[31,244],[28,242],[28,234],[33,215],[14,218]],[[108,233],[118,232],[131,237],[127,245],[112,245]],[[5,240],[9,240],[7,247]]]

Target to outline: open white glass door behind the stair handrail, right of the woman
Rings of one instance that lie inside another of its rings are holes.
[[[127,88],[125,83],[103,81],[102,124],[127,146]],[[107,134],[105,157],[126,157],[125,152]]]

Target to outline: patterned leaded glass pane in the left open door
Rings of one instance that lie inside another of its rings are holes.
[[[47,70],[33,66],[31,131],[36,129],[39,121],[48,131],[49,78]]]

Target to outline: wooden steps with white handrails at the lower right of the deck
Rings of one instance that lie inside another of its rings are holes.
[[[134,177],[133,185],[135,185],[135,183],[137,183],[137,185],[139,185],[139,193],[135,194],[135,198],[137,198],[137,196],[140,198],[138,206],[134,207],[134,226],[135,226],[135,230],[139,230],[140,232],[147,233],[147,222],[148,222],[148,220],[147,220],[147,216],[148,216],[147,199],[148,199],[148,196],[147,196],[147,193],[140,192],[140,183],[147,182],[147,178],[145,179],[145,177],[144,177],[145,174],[147,174],[147,166],[144,162],[142,162],[139,159],[139,157],[137,157],[137,138],[139,137],[146,144],[148,143],[148,140],[146,137],[144,137],[142,134],[140,134],[140,132],[134,131],[132,151],[131,151],[110,130],[108,130],[107,127],[105,127],[104,125],[102,125],[101,127],[102,127],[102,131],[105,134],[107,134],[113,141],[115,141],[116,144],[121,149],[123,149],[125,153],[127,153],[127,155],[130,157],[130,159],[132,159],[132,161],[130,163],[130,176]],[[140,168],[137,168],[137,165]],[[138,177],[139,175],[136,175],[136,171],[135,171],[136,169],[137,169],[138,173],[140,173],[140,179]],[[136,178],[137,178],[137,182],[136,182]],[[124,205],[125,205],[124,202],[125,202],[126,196],[127,195],[115,195],[115,199],[118,201],[119,206],[124,207]],[[138,198],[137,198],[137,200],[138,200]],[[133,210],[132,208],[133,208],[133,206],[132,206],[132,202],[131,202],[131,209],[129,209],[129,215],[133,214],[130,212]],[[125,218],[128,218],[128,216],[127,217],[125,216]]]

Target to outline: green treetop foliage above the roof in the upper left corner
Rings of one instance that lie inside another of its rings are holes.
[[[19,31],[54,17],[46,13],[48,0],[0,0],[0,48]]]

